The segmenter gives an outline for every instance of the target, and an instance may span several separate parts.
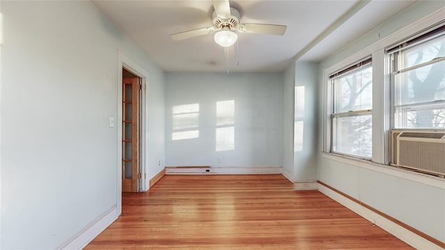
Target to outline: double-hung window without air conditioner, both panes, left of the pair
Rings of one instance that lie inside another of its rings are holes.
[[[332,153],[371,159],[372,70],[369,58],[330,76]]]

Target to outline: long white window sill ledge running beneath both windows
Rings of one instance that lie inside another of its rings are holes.
[[[346,163],[348,165],[353,165],[356,167],[362,167],[364,169],[373,170],[376,172],[389,174],[391,176],[396,176],[398,178],[404,178],[409,181],[415,181],[416,183],[422,183],[425,185],[430,185],[435,188],[440,188],[445,190],[445,178],[439,178],[437,176],[430,176],[428,174],[422,174],[407,169],[401,169],[398,167],[390,165],[382,165],[379,163],[373,163],[369,160],[362,160],[357,158],[352,158],[349,156],[341,156],[335,153],[322,153],[322,157],[329,160],[335,160],[340,163]]]

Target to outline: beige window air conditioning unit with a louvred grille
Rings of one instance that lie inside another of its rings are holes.
[[[445,131],[401,131],[397,135],[394,160],[398,167],[436,174],[444,178]]]

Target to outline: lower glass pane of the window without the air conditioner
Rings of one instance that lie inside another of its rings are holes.
[[[372,115],[335,116],[332,150],[353,156],[372,156]]]

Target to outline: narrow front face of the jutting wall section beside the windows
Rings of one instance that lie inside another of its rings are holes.
[[[316,181],[318,65],[296,62],[294,181]]]

